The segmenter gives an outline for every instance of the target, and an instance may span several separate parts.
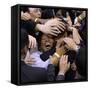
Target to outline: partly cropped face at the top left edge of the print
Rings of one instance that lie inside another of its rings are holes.
[[[29,8],[29,12],[32,18],[41,18],[40,8]]]

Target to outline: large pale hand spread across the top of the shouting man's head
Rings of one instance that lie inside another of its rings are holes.
[[[61,31],[64,31],[65,24],[60,21],[60,19],[55,18],[48,20],[44,25],[37,24],[36,29],[38,29],[44,34],[51,34],[57,36],[59,33],[61,33]]]

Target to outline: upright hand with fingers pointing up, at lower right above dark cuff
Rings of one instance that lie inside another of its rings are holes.
[[[70,68],[70,62],[68,62],[68,55],[62,55],[59,61],[59,75],[65,75]]]

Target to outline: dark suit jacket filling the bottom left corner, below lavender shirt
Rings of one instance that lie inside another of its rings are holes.
[[[44,68],[31,67],[21,61],[21,83],[47,81],[47,71]]]

